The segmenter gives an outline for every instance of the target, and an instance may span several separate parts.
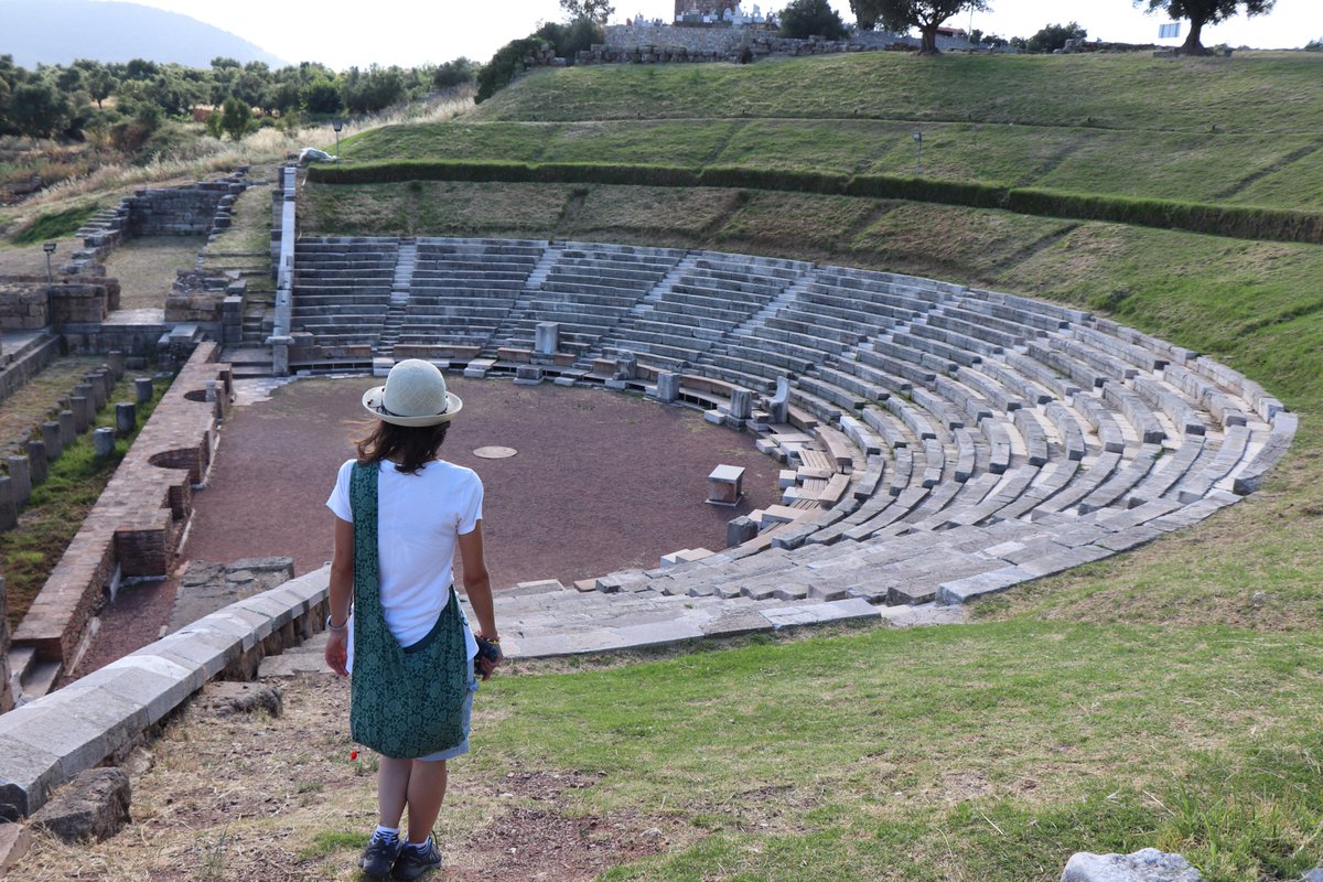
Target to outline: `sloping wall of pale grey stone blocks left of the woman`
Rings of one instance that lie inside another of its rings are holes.
[[[253,680],[265,656],[320,631],[327,570],[232,603],[0,715],[0,816],[32,815],[78,772],[123,762],[208,680]]]

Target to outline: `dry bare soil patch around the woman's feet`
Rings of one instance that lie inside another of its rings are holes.
[[[86,845],[38,837],[9,878],[176,882],[359,879],[376,822],[376,764],[351,759],[348,681],[282,681],[284,715],[226,717],[194,701],[128,763],[132,824]],[[488,711],[475,709],[475,750]],[[463,882],[590,879],[667,846],[648,819],[577,812],[598,772],[475,771],[451,764],[431,878]]]

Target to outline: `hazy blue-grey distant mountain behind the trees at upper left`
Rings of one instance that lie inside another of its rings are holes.
[[[0,56],[22,67],[38,62],[67,65],[97,61],[173,61],[209,67],[224,56],[241,62],[284,61],[261,46],[197,19],[136,3],[102,0],[0,0]]]

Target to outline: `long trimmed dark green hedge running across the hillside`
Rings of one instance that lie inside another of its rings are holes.
[[[1060,190],[996,186],[886,175],[837,175],[740,167],[705,169],[603,163],[507,163],[476,160],[396,160],[314,165],[308,180],[325,184],[401,181],[499,181],[533,184],[615,184],[638,186],[725,186],[828,196],[894,198],[938,205],[1005,209],[1019,214],[1109,221],[1189,230],[1241,239],[1323,243],[1323,213],[1175,200],[1139,200]]]

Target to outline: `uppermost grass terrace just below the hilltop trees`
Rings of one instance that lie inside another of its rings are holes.
[[[607,65],[536,73],[487,122],[892,119],[1316,136],[1323,57],[820,56],[757,65]]]

